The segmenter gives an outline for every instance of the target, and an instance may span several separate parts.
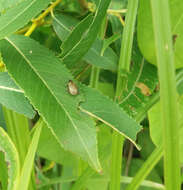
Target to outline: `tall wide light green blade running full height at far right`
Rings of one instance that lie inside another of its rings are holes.
[[[152,18],[160,79],[166,190],[180,190],[179,126],[169,1],[152,0]]]

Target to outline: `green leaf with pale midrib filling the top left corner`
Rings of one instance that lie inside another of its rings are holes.
[[[50,0],[26,0],[0,16],[0,39],[17,31],[42,11]]]

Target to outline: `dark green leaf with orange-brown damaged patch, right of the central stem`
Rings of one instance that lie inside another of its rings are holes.
[[[144,60],[137,47],[133,48],[132,63],[120,106],[129,115],[136,117],[156,93],[154,91],[158,85],[158,78],[156,67]]]

